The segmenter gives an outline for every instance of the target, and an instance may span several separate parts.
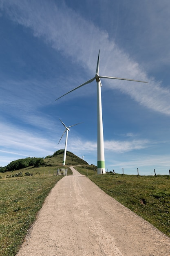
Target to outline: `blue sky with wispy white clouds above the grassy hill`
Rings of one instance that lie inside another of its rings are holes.
[[[97,165],[99,74],[105,163],[126,174],[169,174],[169,0],[0,0],[0,166],[64,148]],[[107,169],[106,169],[107,170]]]

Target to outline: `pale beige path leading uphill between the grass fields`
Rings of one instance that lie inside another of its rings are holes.
[[[17,256],[170,256],[170,238],[72,170],[46,198]]]

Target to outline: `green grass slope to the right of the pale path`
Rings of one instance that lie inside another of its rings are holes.
[[[82,174],[87,173],[83,166],[75,168]],[[89,169],[88,177],[108,195],[170,237],[170,176],[94,175]]]

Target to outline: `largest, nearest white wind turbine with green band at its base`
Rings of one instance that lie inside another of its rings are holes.
[[[100,50],[99,50],[99,54],[100,54]],[[102,97],[101,97],[102,83],[101,83],[100,78],[119,79],[119,80],[148,83],[145,81],[139,81],[139,80],[134,80],[134,79],[126,79],[126,78],[119,78],[119,77],[112,77],[112,76],[100,76],[99,75],[99,55],[98,55],[95,76],[92,79],[86,81],[85,83],[82,83],[81,85],[77,86],[73,90],[65,93],[64,95],[62,95],[61,97],[56,99],[56,101],[57,101],[58,99],[65,96],[66,94],[73,92],[74,90],[77,90],[78,88],[80,88],[88,83],[91,83],[96,79],[96,82],[97,82],[97,174],[106,173],[105,159],[104,159],[103,121],[102,121]]]

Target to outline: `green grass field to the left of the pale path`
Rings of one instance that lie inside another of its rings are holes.
[[[0,180],[0,255],[14,256],[44,199],[62,176]]]

